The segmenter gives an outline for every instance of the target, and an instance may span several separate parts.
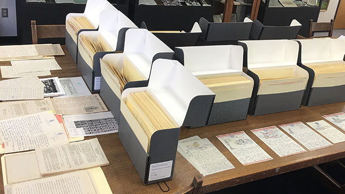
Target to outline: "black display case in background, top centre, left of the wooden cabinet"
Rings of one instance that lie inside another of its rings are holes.
[[[215,0],[184,0],[183,2],[178,0],[130,0],[129,17],[137,26],[140,26],[141,22],[144,21],[150,31],[183,30],[189,32],[191,26],[193,26],[195,22],[198,22],[201,17],[206,18],[208,21],[212,21],[214,1]],[[187,3],[190,5],[187,5]],[[195,5],[191,5],[193,3]],[[205,3],[205,6],[201,5],[202,3]]]

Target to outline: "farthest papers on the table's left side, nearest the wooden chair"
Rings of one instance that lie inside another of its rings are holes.
[[[51,59],[54,58],[54,55],[65,55],[60,44],[0,46],[0,61]]]

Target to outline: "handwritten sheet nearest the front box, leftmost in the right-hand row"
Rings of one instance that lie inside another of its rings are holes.
[[[207,138],[187,141],[180,147],[204,176],[235,168]]]

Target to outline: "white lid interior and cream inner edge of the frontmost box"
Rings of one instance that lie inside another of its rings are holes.
[[[128,88],[121,95],[121,112],[147,152],[148,139],[125,102],[129,93],[148,91],[177,126],[182,126],[191,100],[196,96],[214,95],[191,72],[174,60],[157,59],[147,87]]]

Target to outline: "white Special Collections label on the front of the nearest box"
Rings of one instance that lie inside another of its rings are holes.
[[[173,161],[151,163],[148,181],[168,178],[172,175]]]

